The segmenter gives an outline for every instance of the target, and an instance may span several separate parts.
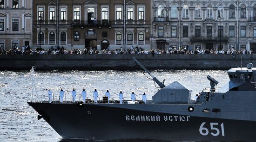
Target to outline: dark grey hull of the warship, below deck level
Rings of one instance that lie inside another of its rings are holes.
[[[179,106],[179,111],[168,111],[168,109],[175,110],[174,105],[33,102],[28,104],[65,138],[168,141],[256,140],[256,121],[229,119],[224,115],[228,112],[211,113],[211,116],[210,113],[202,114],[202,111],[196,111],[197,107],[201,107],[200,105],[193,105],[195,111],[189,112],[187,108],[190,105]],[[154,108],[164,110],[151,111]],[[240,111],[232,113],[234,116],[245,114]]]

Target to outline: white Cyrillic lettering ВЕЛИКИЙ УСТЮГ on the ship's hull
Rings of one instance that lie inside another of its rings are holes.
[[[127,115],[126,121],[173,121],[189,122],[190,116]]]

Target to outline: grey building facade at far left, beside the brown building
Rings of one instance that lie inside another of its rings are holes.
[[[0,48],[32,45],[32,0],[0,0]]]

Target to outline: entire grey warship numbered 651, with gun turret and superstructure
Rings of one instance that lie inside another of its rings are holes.
[[[28,101],[62,138],[87,140],[153,139],[163,141],[255,141],[256,68],[227,71],[221,88],[211,76],[210,88],[191,100],[191,90],[179,82],[164,85],[134,57],[134,61],[161,88],[152,100]],[[75,120],[75,121],[74,121]]]

